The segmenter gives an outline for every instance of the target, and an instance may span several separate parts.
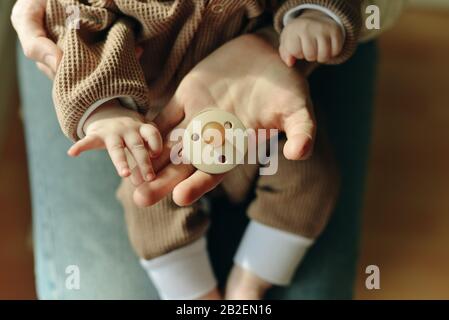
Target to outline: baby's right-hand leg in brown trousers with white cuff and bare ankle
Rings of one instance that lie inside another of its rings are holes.
[[[251,219],[234,258],[227,299],[261,299],[272,285],[288,285],[322,232],[338,195],[338,174],[323,136],[306,161],[283,157],[275,175],[260,176]]]

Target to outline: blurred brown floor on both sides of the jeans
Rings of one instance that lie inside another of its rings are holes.
[[[382,62],[357,298],[449,299],[449,12],[409,11]],[[20,122],[0,153],[0,299],[33,298]],[[381,290],[364,270],[381,270]]]

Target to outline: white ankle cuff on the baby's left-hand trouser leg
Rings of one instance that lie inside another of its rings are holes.
[[[193,300],[217,286],[206,239],[140,263],[163,300]]]

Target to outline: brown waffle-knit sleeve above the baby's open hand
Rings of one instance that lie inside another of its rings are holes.
[[[148,108],[148,89],[135,54],[134,23],[113,0],[48,0],[49,36],[63,50],[53,100],[63,132],[78,140],[77,127],[96,102],[132,98]]]

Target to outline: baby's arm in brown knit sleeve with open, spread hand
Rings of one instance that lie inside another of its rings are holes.
[[[127,177],[127,148],[142,178],[151,180],[150,157],[159,153],[161,139],[138,113],[148,109],[149,94],[136,49],[136,21],[115,1],[80,0],[48,0],[45,21],[49,36],[64,50],[53,88],[58,119],[69,138],[81,139],[69,154],[106,148],[118,174]]]

